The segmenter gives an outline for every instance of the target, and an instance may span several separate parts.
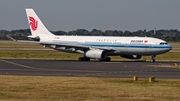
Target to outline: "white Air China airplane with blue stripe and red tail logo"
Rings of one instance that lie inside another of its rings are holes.
[[[44,26],[32,8],[26,9],[31,30],[29,38],[35,43],[58,51],[81,53],[79,61],[111,61],[109,56],[121,56],[127,59],[140,59],[151,56],[155,62],[156,55],[166,53],[172,47],[164,40],[152,37],[110,37],[110,36],[65,36],[54,35]]]

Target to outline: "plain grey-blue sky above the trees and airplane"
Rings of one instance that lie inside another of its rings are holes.
[[[33,8],[51,31],[180,30],[180,0],[0,0],[0,30],[28,29]]]

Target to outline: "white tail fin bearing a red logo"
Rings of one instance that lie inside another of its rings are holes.
[[[26,9],[26,14],[27,14],[31,34],[32,34],[32,36],[28,36],[28,37],[44,39],[43,37],[45,36],[46,37],[54,36],[54,34],[52,34],[51,32],[47,30],[47,28],[41,22],[41,20],[36,15],[33,9],[31,8]]]

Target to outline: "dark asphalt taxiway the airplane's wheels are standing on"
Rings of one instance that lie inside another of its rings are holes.
[[[63,60],[1,59],[0,75],[83,76],[115,78],[180,78],[173,62],[79,62]],[[177,63],[180,64],[180,63]]]

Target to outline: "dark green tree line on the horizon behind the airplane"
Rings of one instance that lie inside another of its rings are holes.
[[[77,35],[77,36],[139,36],[139,37],[155,37],[163,39],[167,42],[180,42],[180,31],[177,29],[171,30],[138,30],[138,31],[118,31],[118,30],[106,30],[101,31],[93,29],[88,31],[86,29],[77,29],[69,32],[65,31],[51,31],[55,35]],[[17,40],[28,40],[27,36],[30,35],[30,29],[20,30],[0,30],[0,40],[8,40],[6,35],[9,35]]]

